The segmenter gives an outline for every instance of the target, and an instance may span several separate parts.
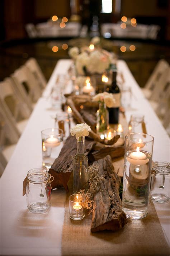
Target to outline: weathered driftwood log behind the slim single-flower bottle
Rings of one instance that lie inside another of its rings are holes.
[[[93,148],[95,141],[86,137],[85,141],[85,154],[88,156],[89,152]],[[64,187],[68,192],[67,183],[69,181],[71,172],[73,170],[73,158],[77,152],[77,141],[75,136],[69,136],[63,145],[59,156],[53,162],[49,169],[49,174],[54,177],[51,182],[52,189],[58,187]]]

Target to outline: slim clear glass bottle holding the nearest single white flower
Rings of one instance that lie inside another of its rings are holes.
[[[84,154],[84,136],[77,138],[77,154],[73,163],[73,191],[88,188],[88,157]]]

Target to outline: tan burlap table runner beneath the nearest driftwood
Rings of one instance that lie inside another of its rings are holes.
[[[129,220],[119,231],[91,233],[91,215],[83,220],[71,220],[69,199],[65,204],[62,233],[63,256],[110,255],[170,255],[154,204],[150,202],[148,216],[142,220]]]

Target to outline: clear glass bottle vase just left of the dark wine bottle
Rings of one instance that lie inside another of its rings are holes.
[[[102,135],[104,131],[108,129],[109,125],[109,113],[103,100],[99,103],[99,109],[96,115],[96,130],[99,135]]]

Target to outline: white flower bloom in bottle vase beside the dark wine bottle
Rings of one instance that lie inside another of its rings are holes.
[[[98,93],[93,97],[93,101],[95,102],[102,102],[104,101],[104,103],[106,104],[106,107],[108,108],[112,108],[115,105],[115,99],[113,97],[112,93]]]

